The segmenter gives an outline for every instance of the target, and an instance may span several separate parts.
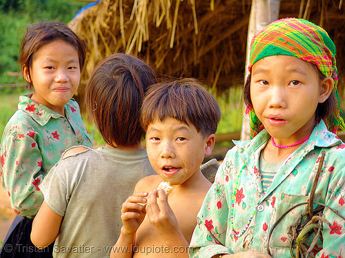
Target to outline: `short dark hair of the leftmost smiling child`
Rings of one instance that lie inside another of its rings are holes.
[[[26,32],[21,39],[19,50],[18,61],[21,64],[21,71],[24,68],[28,68],[28,76],[30,77],[30,68],[34,53],[44,45],[57,39],[70,43],[77,50],[80,70],[83,70],[86,55],[85,43],[66,24],[60,21],[46,21],[27,26]],[[27,88],[30,89],[31,87],[32,83],[27,82]]]

